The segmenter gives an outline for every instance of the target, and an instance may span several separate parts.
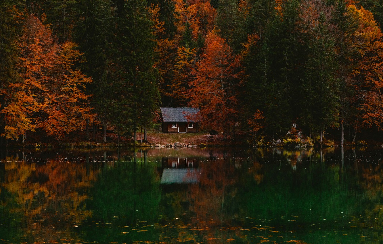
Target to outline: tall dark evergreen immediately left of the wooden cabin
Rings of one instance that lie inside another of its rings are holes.
[[[134,135],[139,126],[146,128],[151,124],[159,104],[157,70],[154,68],[153,25],[146,5],[144,0],[125,3],[118,12],[116,32],[121,53],[118,67],[121,68],[122,89],[119,89],[121,99],[118,102],[129,104],[130,107],[119,106],[119,110],[130,111],[131,118],[131,123],[124,123],[124,119],[118,123],[125,128],[132,125]],[[118,47],[113,49],[118,50]]]

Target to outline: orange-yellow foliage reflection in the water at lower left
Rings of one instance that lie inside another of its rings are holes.
[[[87,170],[85,164],[64,159],[49,160],[45,164],[18,159],[2,163],[5,179],[1,188],[15,196],[18,208],[13,207],[11,211],[24,214],[21,221],[28,233],[33,233],[33,238],[43,238],[35,241],[69,238],[60,233],[62,228],[72,228],[92,216],[92,211],[85,208],[88,195],[84,189],[91,186],[98,172]],[[8,204],[0,203],[3,207]]]

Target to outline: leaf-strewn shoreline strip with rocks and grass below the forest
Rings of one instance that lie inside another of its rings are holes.
[[[141,135],[137,133],[137,138]],[[143,139],[143,138],[142,138]],[[77,133],[67,135],[64,138],[56,139],[50,137],[38,137],[31,135],[25,143],[20,140],[18,142],[11,141],[8,146],[2,145],[2,148],[20,149],[20,148],[135,148],[135,147],[156,147],[169,148],[174,147],[175,143],[180,143],[180,147],[198,147],[198,148],[222,148],[222,147],[242,147],[242,148],[326,148],[340,147],[340,142],[336,140],[324,140],[322,143],[313,139],[298,140],[292,138],[283,138],[279,140],[266,140],[262,137],[261,140],[252,142],[250,133],[238,132],[234,138],[223,139],[223,135],[210,135],[208,133],[147,133],[148,142],[137,140],[133,142],[131,137],[121,137],[120,143],[117,143],[117,135],[108,133],[108,142],[103,142],[101,133],[98,133],[95,139],[85,139],[85,134]],[[344,142],[344,147],[366,147],[366,146],[382,146],[383,142],[376,140],[360,140],[352,144],[349,141]]]

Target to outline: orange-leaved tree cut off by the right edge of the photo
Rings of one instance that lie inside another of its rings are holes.
[[[347,15],[357,28],[351,34],[351,62],[355,62],[350,80],[356,89],[357,119],[365,127],[383,123],[383,42],[380,28],[372,13],[363,7],[349,5]]]

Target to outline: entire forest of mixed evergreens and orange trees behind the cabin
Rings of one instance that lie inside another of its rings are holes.
[[[0,134],[147,130],[159,107],[277,138],[380,132],[383,0],[2,0]]]

